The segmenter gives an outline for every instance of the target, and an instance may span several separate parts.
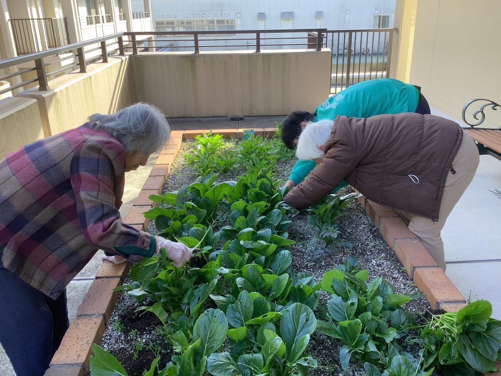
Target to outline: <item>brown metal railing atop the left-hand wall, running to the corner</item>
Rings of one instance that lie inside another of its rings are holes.
[[[58,75],[60,73],[64,73],[68,70],[72,70],[76,66],[80,67],[80,73],[86,73],[87,72],[87,63],[89,61],[96,61],[99,59],[103,63],[107,63],[108,62],[108,55],[112,55],[112,54],[115,54],[117,52],[119,52],[119,55],[123,56],[123,55],[125,55],[125,53],[124,53],[124,48],[123,48],[122,36],[123,36],[123,33],[117,33],[117,34],[108,35],[106,37],[91,39],[91,40],[85,41],[85,42],[73,43],[71,45],[67,45],[67,46],[63,46],[63,47],[52,48],[52,49],[47,50],[47,51],[37,52],[34,54],[25,55],[25,56],[19,56],[17,58],[13,58],[13,59],[1,60],[0,61],[0,69],[6,69],[6,68],[17,66],[19,64],[29,63],[29,62],[34,62],[35,67],[22,69],[20,71],[2,76],[2,77],[0,77],[0,81],[9,80],[9,79],[12,79],[14,77],[18,77],[18,76],[21,76],[25,73],[29,73],[29,72],[33,72],[33,71],[37,72],[37,77],[29,79],[29,80],[24,81],[24,82],[21,82],[19,84],[13,85],[7,89],[0,90],[0,95],[7,93],[9,91],[15,90],[15,89],[19,89],[23,86],[32,84],[34,82],[38,82],[39,90],[47,91],[47,90],[50,90],[48,78],[51,76],[55,76],[55,75]],[[108,41],[111,43],[108,44],[107,43]],[[111,51],[108,50],[109,46],[112,46],[112,45],[116,46],[117,43],[119,46],[118,48],[111,50]],[[98,47],[84,51],[84,47],[95,45],[95,44],[97,44]],[[65,65],[61,69],[47,73],[46,67],[48,67],[52,64],[59,63],[63,60],[66,60],[66,58],[60,58],[60,59],[51,61],[48,64],[46,64],[44,62],[44,58],[55,56],[55,55],[66,53],[66,52],[70,52],[72,50],[77,51],[77,62],[76,63]],[[101,54],[98,54],[98,56],[94,55],[88,59],[85,58],[85,54],[89,54],[89,53],[92,53],[94,51],[100,51]]]

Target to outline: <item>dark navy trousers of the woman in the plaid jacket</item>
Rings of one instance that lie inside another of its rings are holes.
[[[17,376],[43,376],[68,326],[66,290],[51,299],[0,261],[0,343]]]

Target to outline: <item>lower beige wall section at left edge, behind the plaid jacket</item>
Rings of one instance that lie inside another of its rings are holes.
[[[0,100],[0,134],[0,159],[44,138],[37,101],[17,97]]]

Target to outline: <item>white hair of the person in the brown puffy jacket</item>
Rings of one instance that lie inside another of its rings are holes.
[[[301,132],[296,149],[296,156],[303,160],[315,160],[323,158],[324,152],[320,145],[325,145],[331,136],[334,121],[325,119],[316,123],[309,122]]]

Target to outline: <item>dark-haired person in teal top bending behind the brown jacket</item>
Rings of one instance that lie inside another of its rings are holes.
[[[289,149],[295,149],[301,131],[311,121],[334,120],[337,115],[367,118],[402,112],[429,114],[430,107],[420,89],[392,78],[360,82],[329,97],[313,113],[294,111],[287,115],[282,122],[280,137]],[[316,165],[314,160],[298,160],[285,185],[292,190]],[[331,193],[346,185],[346,181],[341,181]]]

